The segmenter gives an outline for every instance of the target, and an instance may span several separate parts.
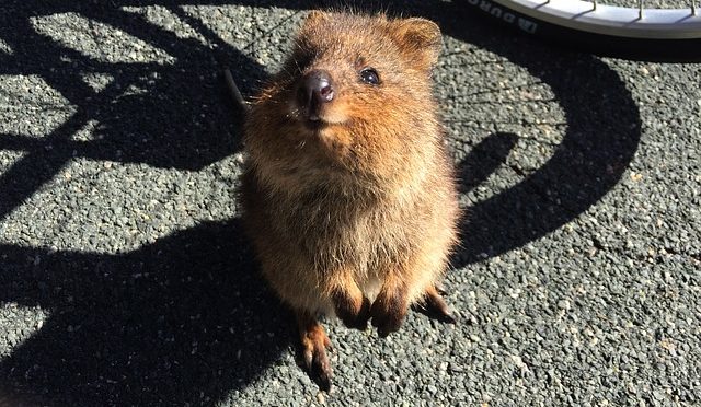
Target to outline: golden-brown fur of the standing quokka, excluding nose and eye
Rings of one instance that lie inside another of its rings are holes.
[[[459,218],[432,96],[439,50],[427,20],[312,12],[252,104],[244,219],[263,275],[297,312],[306,352],[327,341],[310,315],[335,311],[359,328],[371,317],[387,335],[411,304],[438,295]],[[378,85],[360,81],[366,67]],[[312,69],[330,72],[336,95],[317,128],[295,98]]]

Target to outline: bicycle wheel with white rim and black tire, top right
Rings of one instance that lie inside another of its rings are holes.
[[[467,0],[518,31],[591,54],[634,60],[701,61],[701,10],[646,9],[581,0]]]

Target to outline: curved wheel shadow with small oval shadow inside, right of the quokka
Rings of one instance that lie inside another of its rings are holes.
[[[446,3],[439,14],[432,8],[423,10],[424,15],[440,22],[445,34],[503,56],[548,84],[567,125],[548,162],[519,184],[468,209],[455,267],[501,255],[551,233],[618,184],[640,143],[641,118],[631,92],[614,70],[593,56],[555,53],[509,30],[487,25],[459,2]],[[485,138],[460,163],[462,184],[474,186],[486,178],[517,140],[514,133]]]

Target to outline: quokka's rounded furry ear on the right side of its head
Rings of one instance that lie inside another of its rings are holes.
[[[443,44],[440,28],[433,21],[420,18],[395,20],[393,37],[402,51],[421,68],[429,70],[438,61]]]

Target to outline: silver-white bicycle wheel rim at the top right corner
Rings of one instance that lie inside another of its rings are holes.
[[[701,38],[701,13],[693,1],[688,9],[633,9],[581,0],[493,1],[533,19],[589,33],[651,39]],[[494,9],[485,11],[494,14]]]

